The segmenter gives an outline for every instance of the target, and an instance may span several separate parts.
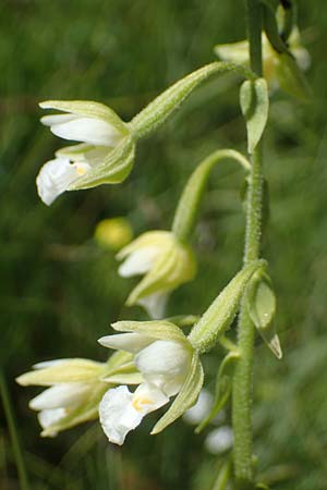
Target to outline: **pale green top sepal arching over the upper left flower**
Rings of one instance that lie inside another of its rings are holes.
[[[72,114],[100,119],[112,125],[122,135],[129,134],[129,128],[117,113],[100,102],[89,100],[46,100],[40,102],[41,109],[56,109],[58,111],[71,112]]]

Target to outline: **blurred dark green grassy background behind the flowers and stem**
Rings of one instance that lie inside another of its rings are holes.
[[[196,163],[216,148],[245,150],[239,82],[225,76],[138,145],[122,185],[66,193],[48,208],[35,176],[62,142],[39,124],[37,103],[98,100],[129,120],[169,84],[211,61],[215,44],[244,38],[243,2],[1,0],[0,24],[0,355],[31,489],[209,490],[225,455],[206,453],[206,434],[194,436],[183,420],[150,437],[158,414],[150,415],[122,449],[107,442],[98,424],[44,440],[27,407],[37,390],[17,387],[14,378],[38,360],[105,359],[96,340],[109,323],[146,318],[141,308],[123,306],[135,281],[120,279],[114,253],[95,242],[99,220],[125,216],[135,234],[167,229]],[[313,98],[300,105],[275,94],[265,140],[270,221],[263,253],[278,294],[284,358],[274,359],[257,340],[255,452],[271,488],[325,490],[326,2],[301,0],[299,24],[312,58]],[[173,294],[169,315],[204,311],[240,268],[241,186],[232,164],[213,173],[194,236],[198,275]],[[206,358],[209,389],[221,356],[217,350]],[[20,488],[4,417],[0,488]]]

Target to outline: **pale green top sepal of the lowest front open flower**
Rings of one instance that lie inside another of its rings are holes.
[[[181,329],[167,320],[117,321],[111,327],[119,332],[135,332],[150,339],[182,342],[191,348],[190,342]]]

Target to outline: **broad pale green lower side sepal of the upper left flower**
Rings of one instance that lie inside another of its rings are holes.
[[[101,184],[120,184],[130,174],[135,158],[135,144],[132,136],[125,136],[107,157],[76,179],[69,191],[90,188]]]

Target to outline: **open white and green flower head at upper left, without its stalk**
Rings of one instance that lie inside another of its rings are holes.
[[[57,158],[40,169],[36,184],[45,204],[50,205],[64,191],[114,184],[128,176],[134,160],[133,138],[109,107],[84,100],[50,100],[40,107],[63,112],[41,118],[56,136],[80,142],[58,150]]]

